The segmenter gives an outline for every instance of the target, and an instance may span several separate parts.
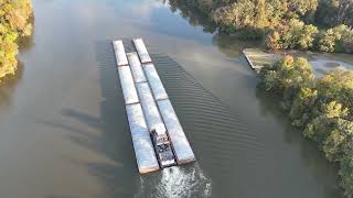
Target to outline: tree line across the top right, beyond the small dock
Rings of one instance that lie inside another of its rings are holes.
[[[353,0],[172,0],[196,8],[218,30],[265,38],[270,50],[353,53]]]

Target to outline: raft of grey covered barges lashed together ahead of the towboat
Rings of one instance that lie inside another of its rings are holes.
[[[179,165],[194,162],[194,153],[143,40],[136,38],[133,44],[137,52],[126,53],[122,41],[113,42],[139,173],[160,168],[149,134],[157,127],[167,128]]]

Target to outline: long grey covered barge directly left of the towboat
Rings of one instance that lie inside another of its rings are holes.
[[[141,106],[139,103],[126,106],[126,112],[128,114],[139,172],[142,174],[159,169]]]

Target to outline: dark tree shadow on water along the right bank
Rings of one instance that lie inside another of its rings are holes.
[[[317,144],[302,136],[301,131],[295,129],[288,118],[288,114],[278,106],[279,98],[271,96],[270,94],[261,90],[258,86],[256,88],[256,97],[260,101],[261,116],[275,117],[285,129],[284,139],[289,145],[299,147],[300,158],[306,167],[310,168],[313,173],[315,180],[324,188],[324,195],[327,198],[343,197],[342,189],[339,187],[338,167],[334,164],[330,164],[319,151]],[[332,183],[336,180],[336,183]]]

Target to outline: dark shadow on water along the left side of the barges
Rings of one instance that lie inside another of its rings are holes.
[[[75,109],[64,109],[61,114],[96,129],[99,133],[92,134],[66,123],[42,123],[72,132],[68,134],[72,142],[109,160],[109,163],[92,163],[68,158],[71,163],[87,168],[99,180],[104,187],[99,197],[132,197],[138,188],[139,176],[110,41],[95,43],[95,58],[101,90],[99,117]]]

